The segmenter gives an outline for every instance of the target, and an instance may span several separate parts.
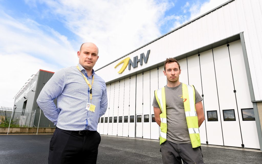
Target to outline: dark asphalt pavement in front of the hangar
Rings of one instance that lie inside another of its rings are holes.
[[[52,135],[0,135],[0,164],[47,164]],[[260,164],[262,152],[201,146],[206,164]],[[98,164],[162,163],[159,141],[101,135]]]

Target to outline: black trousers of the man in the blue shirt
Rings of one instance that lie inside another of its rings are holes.
[[[95,164],[100,141],[97,131],[79,135],[57,127],[50,141],[48,163]]]

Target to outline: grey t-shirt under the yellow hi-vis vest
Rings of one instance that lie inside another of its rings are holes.
[[[187,120],[185,118],[184,102],[182,98],[182,83],[176,87],[165,86],[167,141],[185,144],[191,143]],[[195,89],[195,102],[202,101],[202,97]],[[154,97],[152,106],[160,108]]]

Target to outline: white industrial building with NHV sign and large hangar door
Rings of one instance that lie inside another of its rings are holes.
[[[261,1],[228,1],[96,70],[108,96],[97,131],[158,140],[151,105],[154,90],[167,84],[164,61],[173,57],[181,65],[180,82],[203,96],[201,143],[260,149],[261,19]]]

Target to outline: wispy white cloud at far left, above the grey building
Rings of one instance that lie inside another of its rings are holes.
[[[0,105],[12,107],[13,97],[32,74],[75,65],[78,58],[67,38],[53,29],[0,14]]]

